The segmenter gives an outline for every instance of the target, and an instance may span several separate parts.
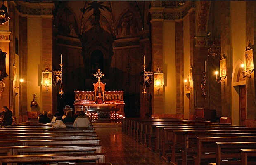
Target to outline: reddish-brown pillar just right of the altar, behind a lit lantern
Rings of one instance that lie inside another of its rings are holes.
[[[163,18],[164,7],[151,7],[151,34],[152,34],[152,71],[159,68],[163,71]],[[163,114],[164,111],[164,87],[160,90],[154,86],[152,94],[152,114]]]

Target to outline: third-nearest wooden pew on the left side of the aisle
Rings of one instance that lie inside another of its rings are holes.
[[[83,145],[83,144],[100,144],[99,139],[75,139],[75,140],[10,140],[10,141],[0,141],[0,146],[42,146],[42,145]]]

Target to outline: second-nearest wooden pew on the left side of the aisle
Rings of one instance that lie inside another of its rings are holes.
[[[57,154],[57,153],[101,153],[102,146],[98,144],[83,145],[55,145],[55,146],[8,146],[1,147],[1,155],[24,154]]]

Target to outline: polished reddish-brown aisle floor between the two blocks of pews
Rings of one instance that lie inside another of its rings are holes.
[[[106,162],[113,165],[169,165],[156,153],[122,133],[121,123],[95,123],[102,152],[106,153]]]

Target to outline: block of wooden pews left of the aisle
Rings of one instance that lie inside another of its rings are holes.
[[[94,128],[52,128],[51,124],[21,123],[0,129],[0,165],[105,163]]]

